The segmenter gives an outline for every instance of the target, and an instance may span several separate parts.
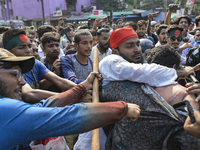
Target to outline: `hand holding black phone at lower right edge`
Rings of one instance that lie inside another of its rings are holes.
[[[194,111],[194,117],[195,123],[192,123],[190,117],[188,116],[185,120],[183,128],[187,133],[191,134],[192,136],[200,138],[200,114],[198,111]]]

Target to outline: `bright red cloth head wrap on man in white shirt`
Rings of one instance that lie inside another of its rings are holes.
[[[138,35],[131,26],[117,29],[110,35],[110,47],[117,48],[124,41],[134,37],[138,37]]]

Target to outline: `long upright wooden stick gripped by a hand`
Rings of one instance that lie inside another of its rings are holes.
[[[94,62],[93,62],[93,72],[99,72],[99,51],[97,48],[94,49]],[[99,81],[95,77],[92,89],[92,100],[93,103],[99,102]],[[92,145],[91,150],[100,150],[100,132],[99,128],[92,131]]]

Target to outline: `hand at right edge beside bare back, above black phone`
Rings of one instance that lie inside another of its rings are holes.
[[[195,94],[197,96],[195,102],[200,101],[200,85],[191,82],[187,83],[185,86],[187,87],[186,91],[188,94]]]

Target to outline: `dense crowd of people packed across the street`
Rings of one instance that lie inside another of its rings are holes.
[[[101,150],[200,149],[200,16],[174,7],[163,22],[1,26],[0,149],[89,150],[95,128]]]

